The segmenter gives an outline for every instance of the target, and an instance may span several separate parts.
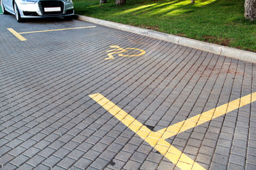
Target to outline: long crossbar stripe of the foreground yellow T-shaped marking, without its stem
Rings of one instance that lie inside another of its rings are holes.
[[[203,167],[194,162],[191,158],[187,157],[181,151],[176,149],[176,147],[171,146],[169,142],[165,140],[161,140],[161,135],[156,134],[156,132],[152,132],[149,128],[142,125],[139,121],[134,119],[131,115],[123,111],[121,108],[116,106],[114,103],[109,101],[107,98],[102,96],[101,94],[92,94],[90,97],[100,104],[103,108],[105,108],[108,112],[114,115],[119,121],[127,125],[133,132],[135,132],[139,137],[142,137],[143,140],[149,143],[151,147],[154,147],[157,151],[163,154],[167,159],[176,164],[181,169],[185,169],[186,166],[195,165],[198,170],[203,170]],[[180,158],[182,162],[178,162]],[[190,164],[188,164],[190,163]]]

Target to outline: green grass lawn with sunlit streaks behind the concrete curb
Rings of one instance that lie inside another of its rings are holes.
[[[256,52],[256,21],[244,0],[73,0],[75,13]]]

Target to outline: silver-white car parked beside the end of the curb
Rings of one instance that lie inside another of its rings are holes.
[[[59,17],[74,15],[72,0],[0,0],[4,14],[11,13],[18,22],[24,18]]]

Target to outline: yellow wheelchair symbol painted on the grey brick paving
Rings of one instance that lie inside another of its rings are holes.
[[[116,48],[116,49],[107,50],[106,52],[110,52],[110,53],[107,53],[108,58],[105,58],[105,60],[114,59],[113,54],[117,54],[117,53],[119,53],[118,55],[121,56],[121,57],[135,57],[135,56],[144,55],[146,53],[144,50],[140,50],[138,48],[126,48],[127,49],[126,50],[122,47],[119,47],[118,45],[111,45],[110,47]],[[123,55],[122,54],[122,52],[127,52],[128,50],[138,50],[141,53],[139,53],[139,55]]]

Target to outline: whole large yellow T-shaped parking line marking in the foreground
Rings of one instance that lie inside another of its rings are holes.
[[[192,118],[188,118],[187,120],[157,132],[153,132],[149,130],[149,128],[146,128],[145,125],[142,125],[142,123],[105,98],[105,96],[102,96],[102,94],[92,94],[90,95],[90,98],[99,103],[100,106],[114,115],[114,117],[124,123],[124,125],[127,125],[128,128],[148,142],[151,147],[154,147],[154,149],[159,151],[164,157],[176,164],[180,169],[204,170],[201,165],[186,156],[186,154],[183,154],[180,150],[176,149],[176,147],[172,146],[169,142],[166,142],[166,139],[256,101],[256,92],[222,106],[218,106],[217,108],[213,108],[210,111],[193,116]]]

